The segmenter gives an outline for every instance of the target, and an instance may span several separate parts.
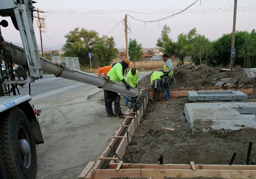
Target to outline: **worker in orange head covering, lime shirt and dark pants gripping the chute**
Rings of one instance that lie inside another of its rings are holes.
[[[129,68],[130,61],[128,59],[122,60],[120,63],[117,63],[113,66],[107,74],[107,78],[114,82],[123,82],[127,89],[130,89],[130,85],[124,80],[124,71],[126,68]],[[125,115],[122,113],[120,109],[120,96],[117,92],[105,90],[107,96],[107,113],[108,117],[117,116],[120,118],[124,118]],[[112,102],[114,101],[115,114],[112,109]]]

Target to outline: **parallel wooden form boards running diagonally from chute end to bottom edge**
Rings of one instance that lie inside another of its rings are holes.
[[[145,111],[145,109],[146,109],[147,104],[148,104],[148,96],[144,99],[144,103],[143,103],[143,105],[141,106],[141,108],[142,108],[144,111]],[[137,120],[138,122],[140,122],[140,119],[141,119],[142,116],[143,116],[143,110],[140,110],[140,109],[139,109],[139,110],[137,111],[138,116],[137,116],[136,113],[132,113],[132,114],[129,113],[130,111],[131,111],[131,112],[134,112],[133,109],[127,110],[127,111],[125,112],[125,115],[127,115],[127,116],[132,116],[132,115],[134,115],[134,117],[136,118],[136,120]],[[124,121],[123,121],[122,124],[123,124],[124,126],[126,126],[126,122],[128,123],[128,121],[130,121],[130,120],[131,120],[131,123],[130,123],[129,127],[127,128],[127,130],[128,130],[128,132],[129,132],[129,134],[132,136],[133,133],[134,133],[134,131],[135,131],[135,128],[138,127],[137,121],[136,121],[133,117],[127,117],[127,118],[124,119]],[[111,139],[111,141],[110,141],[110,143],[108,144],[107,148],[105,149],[104,152],[101,153],[101,155],[100,155],[99,158],[108,158],[108,155],[109,155],[110,152],[111,152],[111,148],[109,147],[109,145],[110,145],[111,147],[113,147],[113,146],[116,144],[118,138],[120,138],[121,133],[122,133],[124,130],[125,130],[125,129],[123,128],[123,126],[119,126],[119,129],[115,132],[115,135],[114,135],[114,136],[118,136],[118,137],[113,137],[113,138]],[[116,149],[116,153],[117,153],[118,157],[120,157],[121,159],[123,158],[124,153],[125,153],[125,151],[126,151],[126,146],[128,145],[127,140],[129,141],[129,143],[130,143],[131,140],[132,140],[132,137],[129,136],[129,135],[127,135],[127,132],[125,132],[124,136],[125,136],[125,137],[123,137],[123,139],[121,140],[121,143],[119,144],[119,146],[118,146],[117,149]],[[113,156],[113,158],[114,158],[114,156]],[[102,167],[102,165],[104,164],[104,161],[105,161],[105,160],[100,160],[100,159],[98,159],[98,160],[95,162],[94,167],[92,167],[92,169],[90,170],[90,172],[85,176],[85,179],[89,179],[89,178],[90,178],[90,179],[94,179],[95,171],[96,171],[97,169],[100,169],[100,168]],[[120,162],[120,160],[117,159],[116,162]],[[115,163],[115,160],[111,160],[110,163]]]

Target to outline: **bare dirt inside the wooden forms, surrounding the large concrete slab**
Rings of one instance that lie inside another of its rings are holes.
[[[255,102],[255,95],[242,102]],[[235,102],[235,101],[232,101]],[[256,129],[212,130],[207,133],[191,135],[186,122],[184,104],[188,98],[178,98],[169,103],[148,105],[148,114],[141,126],[135,131],[127,146],[123,160],[125,163],[157,163],[159,154],[163,154],[164,163],[188,164],[228,164],[233,153],[237,152],[233,164],[244,164],[249,142],[256,142]],[[165,131],[161,127],[175,128]],[[131,157],[132,156],[132,157]],[[252,147],[250,164],[256,164],[256,148]]]

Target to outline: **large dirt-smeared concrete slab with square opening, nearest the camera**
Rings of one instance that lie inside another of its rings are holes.
[[[256,128],[256,103],[186,103],[184,113],[192,134],[212,129]]]

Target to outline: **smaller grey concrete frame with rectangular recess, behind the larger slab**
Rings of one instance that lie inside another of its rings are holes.
[[[233,101],[247,99],[241,91],[188,91],[189,101]]]

